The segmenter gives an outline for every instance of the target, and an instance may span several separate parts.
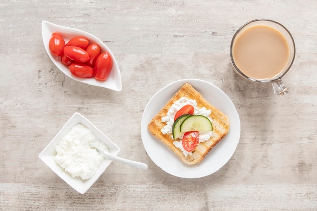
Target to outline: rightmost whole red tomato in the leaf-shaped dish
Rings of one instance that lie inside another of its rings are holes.
[[[112,58],[108,52],[104,52],[97,57],[94,69],[96,80],[107,80],[112,70]]]

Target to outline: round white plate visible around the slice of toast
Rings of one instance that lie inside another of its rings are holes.
[[[230,129],[225,138],[201,162],[194,165],[184,163],[171,149],[147,130],[147,125],[152,118],[185,83],[192,85],[230,120]],[[232,157],[240,139],[240,119],[233,102],[221,89],[207,81],[184,79],[170,83],[150,99],[142,115],[141,136],[148,156],[163,171],[180,178],[201,178],[218,171]]]

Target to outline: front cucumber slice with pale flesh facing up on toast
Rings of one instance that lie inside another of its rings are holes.
[[[186,118],[180,125],[180,132],[187,131],[212,131],[210,120],[201,115],[193,115]]]

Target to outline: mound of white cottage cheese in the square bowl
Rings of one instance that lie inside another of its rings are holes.
[[[96,173],[101,162],[104,160],[90,142],[100,142],[92,131],[82,124],[74,126],[55,147],[54,160],[72,177],[81,177],[83,180],[90,179]]]

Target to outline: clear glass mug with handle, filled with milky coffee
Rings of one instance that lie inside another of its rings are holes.
[[[268,19],[244,24],[232,38],[230,57],[234,70],[243,78],[272,83],[276,95],[288,93],[281,78],[294,62],[295,43],[282,24]]]

